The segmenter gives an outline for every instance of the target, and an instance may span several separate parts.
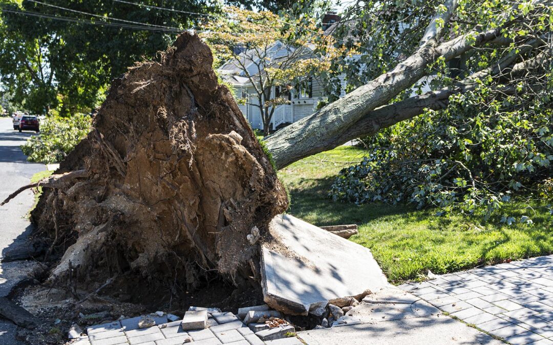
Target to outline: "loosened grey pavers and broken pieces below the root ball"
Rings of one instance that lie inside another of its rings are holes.
[[[244,314],[245,313],[245,314]],[[162,315],[162,316],[159,316]],[[241,314],[224,312],[216,308],[190,307],[182,320],[170,321],[165,314],[155,314],[121,319],[87,328],[87,335],[77,336],[76,345],[148,344],[170,345],[183,343],[248,344],[248,345],[301,345],[295,338],[295,327],[280,319],[279,311],[268,306],[252,306],[241,309]],[[140,328],[144,319],[153,319],[155,325]],[[278,316],[278,317],[277,317]],[[259,321],[245,323],[246,319]],[[161,323],[160,321],[164,321]]]

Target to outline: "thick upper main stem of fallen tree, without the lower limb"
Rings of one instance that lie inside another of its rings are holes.
[[[395,95],[426,76],[426,67],[439,56],[449,61],[474,46],[494,40],[500,31],[498,28],[477,35],[469,33],[439,46],[430,41],[392,71],[328,104],[319,112],[268,136],[265,142],[276,167],[283,168],[301,158],[328,150],[330,143],[364,114],[388,103]]]

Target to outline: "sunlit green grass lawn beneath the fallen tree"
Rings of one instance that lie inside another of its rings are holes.
[[[279,178],[291,195],[290,214],[321,226],[358,224],[359,234],[350,240],[371,249],[390,281],[553,253],[551,219],[538,209],[514,205],[510,215],[527,215],[534,224],[507,226],[405,205],[333,202],[327,195],[334,177],[364,153],[341,146],[291,164]]]

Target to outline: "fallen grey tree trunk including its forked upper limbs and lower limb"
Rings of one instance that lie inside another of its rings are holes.
[[[537,1],[537,3],[544,2]],[[439,57],[442,57],[444,61],[450,61],[485,44],[508,45],[513,43],[512,40],[507,40],[502,36],[503,30],[509,25],[524,20],[524,18],[516,18],[497,28],[483,32],[472,31],[438,44],[443,30],[438,30],[432,25],[435,25],[436,19],[447,23],[451,14],[455,12],[456,1],[446,1],[445,8],[446,12],[436,14],[436,17],[431,20],[419,49],[398,63],[391,71],[326,105],[316,113],[266,137],[265,143],[272,153],[276,167],[281,169],[301,158],[331,150],[354,139],[356,136],[352,136],[353,132],[357,136],[370,135],[380,128],[420,114],[425,107],[440,107],[439,102],[446,100],[452,93],[458,92],[458,89],[450,88],[435,94],[415,97],[403,101],[405,103],[398,104],[395,109],[395,104],[386,104],[401,91],[426,76],[429,73],[427,67]],[[524,45],[519,49],[523,50]],[[517,52],[510,57],[520,55],[521,53]],[[483,72],[489,73],[489,71]],[[395,110],[401,109],[406,109],[408,114],[397,116],[398,112]],[[367,125],[374,125],[375,129],[359,133],[357,128],[364,126],[364,130],[367,130]],[[346,135],[348,132],[351,134]],[[344,140],[346,137],[349,139]]]

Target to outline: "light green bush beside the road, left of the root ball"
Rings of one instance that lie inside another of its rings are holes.
[[[31,162],[61,162],[86,137],[91,123],[91,117],[83,114],[68,118],[50,116],[41,121],[40,133],[30,137],[21,149]]]

